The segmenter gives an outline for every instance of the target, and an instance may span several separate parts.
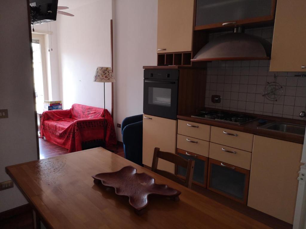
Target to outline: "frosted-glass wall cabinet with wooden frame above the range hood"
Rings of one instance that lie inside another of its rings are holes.
[[[275,0],[196,0],[195,30],[274,19]]]

